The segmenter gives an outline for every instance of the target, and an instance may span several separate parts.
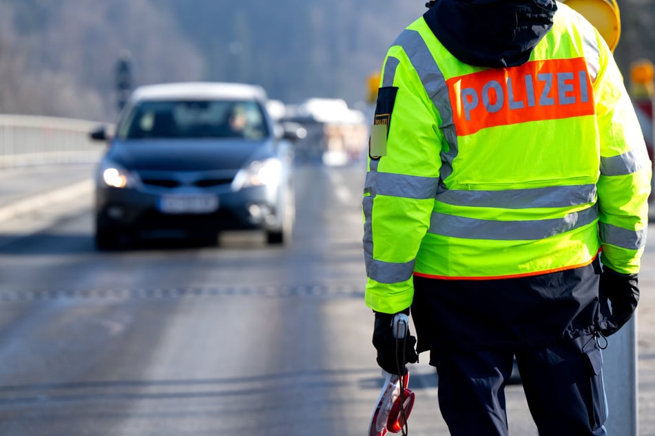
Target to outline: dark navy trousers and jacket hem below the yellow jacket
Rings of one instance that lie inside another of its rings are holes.
[[[520,279],[415,276],[417,351],[430,351],[453,436],[508,435],[514,356],[540,436],[607,435],[599,265]]]

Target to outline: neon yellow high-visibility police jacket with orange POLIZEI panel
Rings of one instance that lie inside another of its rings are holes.
[[[601,250],[638,272],[652,164],[612,53],[571,8],[558,3],[527,63],[494,69],[461,63],[417,19],[388,50],[375,124],[386,151],[371,150],[362,201],[368,307],[409,307],[414,274],[545,274]]]

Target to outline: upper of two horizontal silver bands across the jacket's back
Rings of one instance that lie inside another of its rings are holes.
[[[446,190],[437,201],[480,208],[562,208],[596,201],[596,185],[548,186],[512,190]]]

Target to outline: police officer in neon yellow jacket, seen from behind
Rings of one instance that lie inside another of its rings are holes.
[[[610,48],[553,0],[439,0],[384,60],[364,188],[377,362],[416,351],[452,435],[507,435],[516,358],[540,435],[605,435],[652,177]],[[609,301],[609,303],[608,303]]]

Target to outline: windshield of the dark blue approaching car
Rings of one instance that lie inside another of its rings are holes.
[[[244,138],[269,135],[264,114],[252,100],[143,101],[118,127],[121,140]]]

